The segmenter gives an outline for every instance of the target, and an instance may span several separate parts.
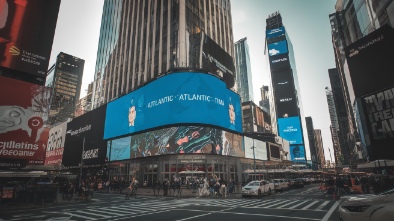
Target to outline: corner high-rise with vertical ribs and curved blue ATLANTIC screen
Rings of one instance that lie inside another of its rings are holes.
[[[92,105],[108,103],[109,178],[241,183],[252,144],[258,168],[279,153],[240,135],[232,33],[229,0],[105,1]]]

